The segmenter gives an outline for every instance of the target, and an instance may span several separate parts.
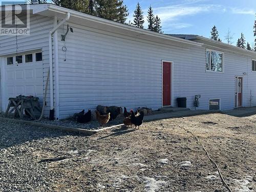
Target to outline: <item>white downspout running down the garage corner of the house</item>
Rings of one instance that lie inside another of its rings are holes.
[[[51,110],[54,110],[54,99],[53,99],[53,48],[52,48],[52,35],[53,33],[63,24],[65,24],[70,18],[70,13],[68,12],[66,14],[66,18],[61,20],[61,22],[55,26],[50,32],[49,32],[49,67],[50,67],[50,107]],[[56,55],[55,55],[56,57]]]

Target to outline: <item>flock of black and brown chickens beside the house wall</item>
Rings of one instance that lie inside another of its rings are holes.
[[[116,112],[117,111],[117,112]],[[120,110],[120,108],[118,110],[114,111],[112,114],[111,113],[107,113],[107,114],[102,114],[99,111],[95,111],[96,114],[96,120],[103,124],[108,123],[109,121],[115,119],[119,114],[121,114],[122,109]],[[80,113],[75,113],[73,115],[73,118],[76,122],[78,123],[88,123],[92,120],[92,112],[91,110],[89,110],[87,113],[84,113],[85,111],[82,110]],[[124,112],[123,112],[123,124],[126,126],[132,126],[135,125],[135,129],[136,127],[140,127],[140,125],[143,123],[143,119],[144,119],[144,111],[143,110],[137,110],[136,112],[134,112],[133,110],[131,110],[130,112],[127,112],[127,109],[124,108]]]

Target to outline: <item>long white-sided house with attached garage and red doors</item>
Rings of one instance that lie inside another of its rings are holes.
[[[54,109],[56,119],[98,104],[157,110],[177,106],[178,97],[186,97],[187,107],[195,109],[195,95],[201,95],[197,109],[256,105],[252,51],[197,35],[155,33],[51,4],[27,9],[30,35],[0,36],[2,111],[8,98],[19,94],[42,101],[49,69],[45,113]]]

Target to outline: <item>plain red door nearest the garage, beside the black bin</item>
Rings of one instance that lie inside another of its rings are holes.
[[[163,106],[170,106],[172,68],[170,62],[163,62]]]

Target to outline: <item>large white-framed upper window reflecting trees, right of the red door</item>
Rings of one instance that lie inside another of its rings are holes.
[[[223,72],[223,53],[206,50],[206,71]]]

